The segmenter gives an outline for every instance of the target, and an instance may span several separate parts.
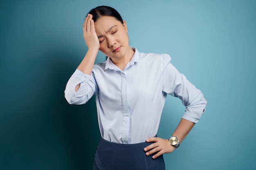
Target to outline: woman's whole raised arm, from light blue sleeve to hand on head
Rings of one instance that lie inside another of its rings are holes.
[[[99,51],[99,39],[90,14],[87,15],[83,22],[83,38],[88,46],[88,51],[67,82],[65,98],[69,104],[85,104],[94,95],[96,89],[96,82],[91,74]]]

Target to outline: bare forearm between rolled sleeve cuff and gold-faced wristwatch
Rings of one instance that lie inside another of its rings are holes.
[[[194,125],[195,123],[182,118],[177,128],[173,132],[173,136],[177,137],[181,143],[186,135],[189,134]]]

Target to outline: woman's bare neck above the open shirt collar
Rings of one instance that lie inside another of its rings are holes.
[[[131,48],[128,48],[126,55],[124,55],[119,59],[115,59],[115,60],[111,59],[111,60],[118,68],[120,68],[123,71],[127,63],[130,62],[130,60],[132,59],[132,56],[134,55],[134,53],[135,51],[133,51]]]

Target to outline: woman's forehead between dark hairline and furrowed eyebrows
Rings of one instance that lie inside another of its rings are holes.
[[[94,23],[95,31],[98,33],[106,32],[114,25],[121,25],[121,22],[111,16],[102,16]]]

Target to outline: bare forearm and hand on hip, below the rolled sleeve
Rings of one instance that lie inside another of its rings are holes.
[[[173,136],[176,136],[181,143],[183,139],[186,137],[186,135],[189,134],[190,130],[193,128],[194,125],[195,123],[182,118],[176,130],[173,132]],[[170,144],[168,139],[151,137],[146,139],[146,142],[154,142],[153,144],[144,148],[144,151],[150,150],[146,152],[146,155],[151,155],[157,152],[155,155],[153,155],[153,159],[159,157],[160,155],[163,155],[164,153],[171,153],[173,152],[173,150],[176,149],[175,146],[172,146]]]

